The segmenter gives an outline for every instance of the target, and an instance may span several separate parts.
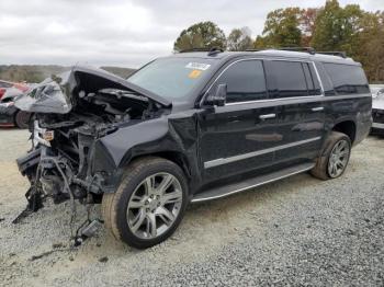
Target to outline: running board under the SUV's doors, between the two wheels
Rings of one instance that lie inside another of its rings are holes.
[[[200,203],[200,202],[225,197],[231,194],[247,191],[270,182],[275,182],[275,181],[289,177],[291,175],[312,170],[314,167],[315,164],[313,162],[304,163],[304,164],[286,168],[278,172],[272,172],[272,173],[260,175],[253,179],[248,179],[242,182],[236,182],[236,183],[224,185],[217,188],[207,190],[205,192],[196,194],[191,202]]]

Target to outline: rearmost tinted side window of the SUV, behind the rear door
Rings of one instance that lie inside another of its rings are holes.
[[[363,69],[359,66],[324,64],[337,94],[370,93]]]

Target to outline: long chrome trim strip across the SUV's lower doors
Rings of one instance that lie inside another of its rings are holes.
[[[278,151],[278,150],[282,150],[282,149],[293,148],[293,147],[305,145],[305,144],[308,144],[308,142],[312,142],[312,141],[316,141],[316,140],[319,140],[319,139],[321,139],[321,137],[304,139],[304,140],[300,140],[300,141],[295,141],[295,142],[291,142],[291,144],[286,144],[286,145],[282,145],[282,146],[278,146],[278,147],[273,147],[273,148],[269,148],[269,149],[262,149],[262,150],[258,150],[258,151],[252,151],[252,152],[248,152],[248,153],[234,156],[234,157],[230,157],[230,158],[221,158],[221,159],[216,159],[216,160],[206,161],[206,162],[204,162],[204,169],[211,169],[211,168],[214,168],[214,167],[217,167],[217,165],[227,164],[227,163],[239,161],[239,160],[245,160],[245,159],[248,159],[248,158],[259,157],[259,156],[262,156],[262,154],[266,154],[266,153],[274,152],[274,151]]]

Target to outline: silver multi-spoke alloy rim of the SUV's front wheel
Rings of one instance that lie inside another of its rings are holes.
[[[131,196],[126,218],[131,231],[140,239],[154,239],[166,232],[177,219],[183,193],[170,173],[146,177]]]

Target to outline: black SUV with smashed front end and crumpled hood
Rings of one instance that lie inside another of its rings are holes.
[[[170,237],[191,202],[340,176],[372,124],[361,65],[313,50],[179,53],[126,80],[75,67],[15,104],[34,114],[18,159],[29,210],[47,196],[101,203],[115,238],[139,249]]]

